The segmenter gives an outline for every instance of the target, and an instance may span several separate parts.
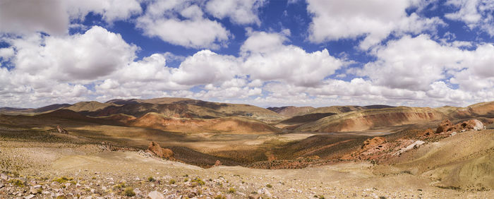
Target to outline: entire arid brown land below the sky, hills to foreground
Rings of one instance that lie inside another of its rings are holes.
[[[143,101],[4,111],[0,198],[494,198],[491,102]]]

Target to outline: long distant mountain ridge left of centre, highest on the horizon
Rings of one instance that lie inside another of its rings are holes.
[[[135,117],[155,112],[167,117],[188,119],[215,119],[226,116],[243,116],[260,121],[275,121],[284,117],[274,111],[248,104],[205,102],[187,98],[164,97],[150,100],[110,100],[100,102],[79,102],[71,107],[86,116],[110,116],[126,114]]]

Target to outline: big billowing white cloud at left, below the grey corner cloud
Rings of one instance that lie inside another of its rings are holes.
[[[16,47],[15,71],[52,80],[95,80],[135,59],[137,47],[99,26],[84,34],[10,41]]]

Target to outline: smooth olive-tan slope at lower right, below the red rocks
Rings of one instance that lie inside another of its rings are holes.
[[[434,179],[435,186],[494,188],[494,131],[467,131],[402,154],[390,163]]]

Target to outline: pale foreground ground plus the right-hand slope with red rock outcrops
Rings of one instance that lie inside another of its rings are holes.
[[[346,160],[274,159],[254,168],[218,163],[207,169],[163,159],[173,154],[157,143],[144,151],[73,135],[18,138],[19,132],[0,137],[0,198],[494,198],[488,164],[494,131],[489,130],[375,137]],[[462,150],[451,154],[459,146]],[[396,161],[380,163],[390,157]],[[259,169],[265,164],[277,169]],[[447,172],[466,174],[462,169],[481,166],[477,173],[486,188],[438,186]]]

